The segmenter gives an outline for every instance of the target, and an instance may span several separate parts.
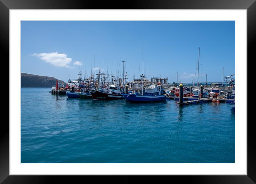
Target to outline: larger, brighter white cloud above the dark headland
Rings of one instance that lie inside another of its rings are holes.
[[[72,68],[69,66],[70,62],[72,61],[72,58],[67,57],[67,54],[65,53],[58,53],[58,52],[52,52],[52,53],[34,53],[32,56],[39,57],[40,60],[43,60],[47,63],[50,63],[51,65],[54,65],[56,67],[67,67]]]

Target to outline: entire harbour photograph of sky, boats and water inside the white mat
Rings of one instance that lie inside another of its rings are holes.
[[[21,21],[21,42],[20,163],[236,163],[235,21]]]

